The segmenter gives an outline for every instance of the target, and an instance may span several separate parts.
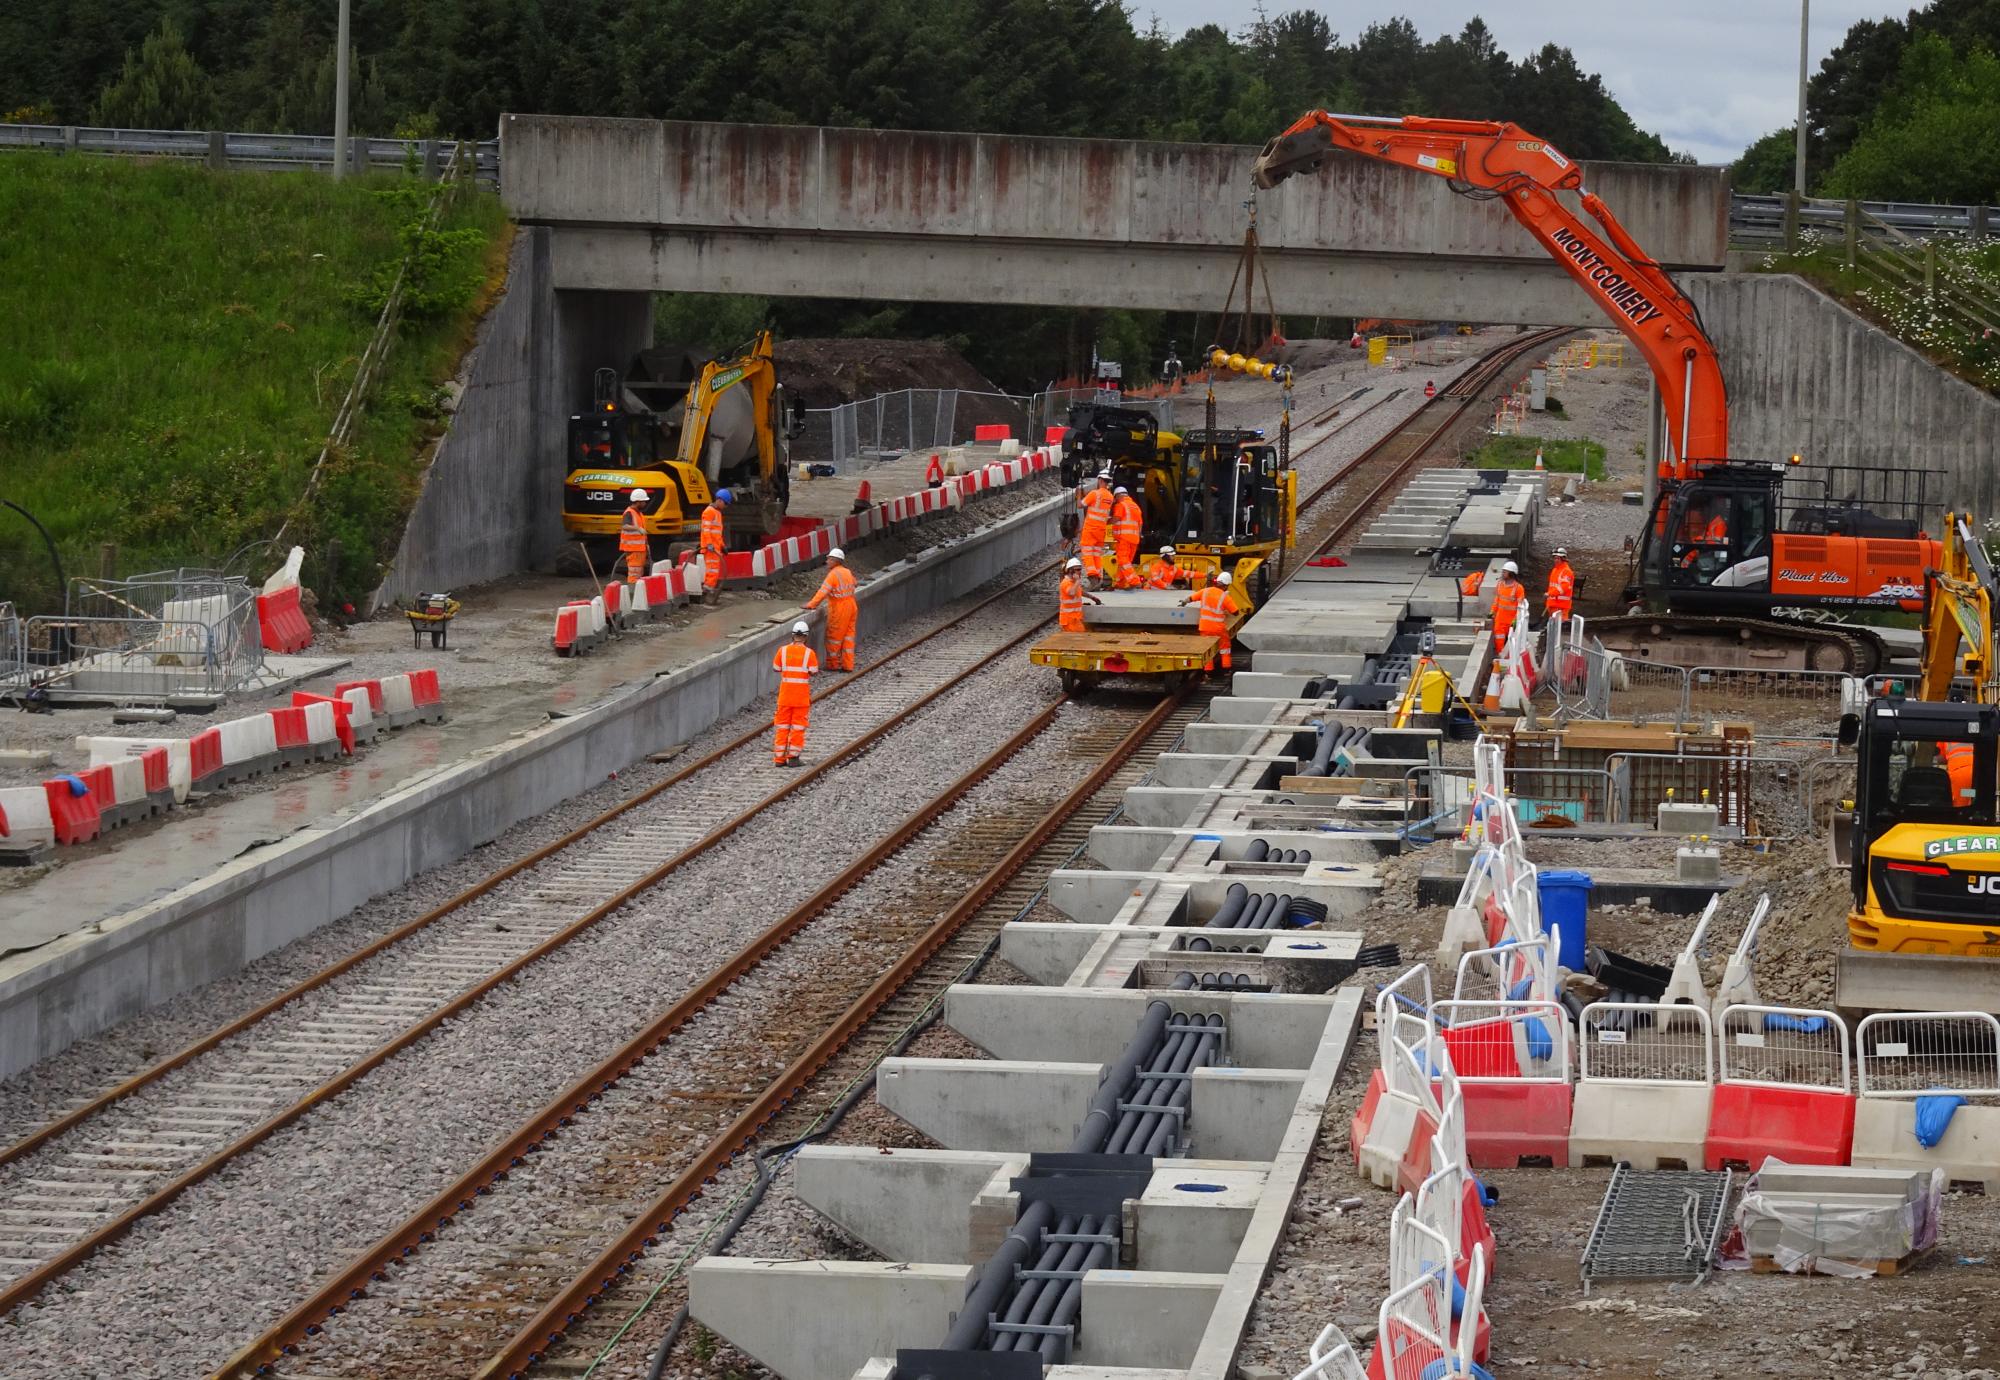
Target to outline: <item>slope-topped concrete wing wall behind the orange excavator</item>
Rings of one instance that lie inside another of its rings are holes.
[[[1722,354],[1730,454],[1928,470],[1940,506],[2000,510],[2000,400],[1790,274],[1682,274]]]

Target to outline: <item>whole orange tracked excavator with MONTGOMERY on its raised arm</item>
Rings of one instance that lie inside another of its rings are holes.
[[[1924,608],[1924,570],[1942,552],[1922,528],[1922,472],[1732,460],[1722,366],[1700,314],[1548,140],[1494,120],[1310,110],[1264,146],[1256,184],[1316,172],[1336,152],[1500,200],[1652,368],[1670,456],[1628,594],[1670,612],[1596,618],[1594,634],[1630,656],[1688,666],[1868,674],[1886,660],[1874,632],[1832,618]],[[1558,192],[1574,192],[1590,220]]]

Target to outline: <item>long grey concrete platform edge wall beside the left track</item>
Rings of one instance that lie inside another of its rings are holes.
[[[1062,502],[1034,504],[966,542],[882,572],[860,590],[864,630],[958,598],[1046,548]],[[660,744],[692,738],[770,690],[770,650],[794,616],[774,616],[764,630],[670,676],[628,686],[354,814],[224,862],[170,896],[0,960],[0,1078],[236,972]]]

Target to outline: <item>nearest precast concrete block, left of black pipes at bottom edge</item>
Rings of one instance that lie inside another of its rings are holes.
[[[870,1356],[936,1346],[974,1266],[706,1256],[688,1314],[784,1380],[846,1380]]]

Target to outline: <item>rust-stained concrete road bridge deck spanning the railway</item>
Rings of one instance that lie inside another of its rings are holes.
[[[590,292],[1212,310],[1254,148],[510,114],[500,190],[550,226],[554,286]],[[1662,264],[1728,250],[1720,168],[1584,164]],[[1600,326],[1494,202],[1360,158],[1264,192],[1294,316]]]

